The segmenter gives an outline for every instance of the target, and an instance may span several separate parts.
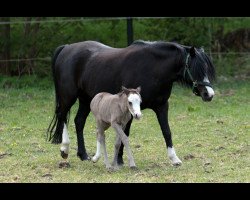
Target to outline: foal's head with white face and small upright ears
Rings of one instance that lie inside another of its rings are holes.
[[[127,89],[124,86],[122,86],[122,91],[128,97],[127,106],[129,112],[135,119],[140,119],[142,117],[141,107],[140,107],[140,104],[142,102],[140,95],[141,87],[138,87],[136,89]]]

